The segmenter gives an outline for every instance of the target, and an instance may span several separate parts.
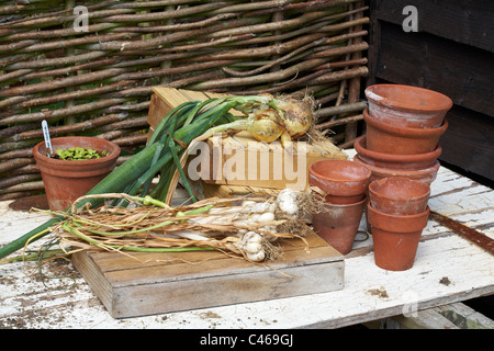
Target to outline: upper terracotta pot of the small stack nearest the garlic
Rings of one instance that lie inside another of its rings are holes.
[[[308,184],[324,191],[326,201],[351,204],[364,197],[371,171],[350,160],[319,160],[308,168]]]

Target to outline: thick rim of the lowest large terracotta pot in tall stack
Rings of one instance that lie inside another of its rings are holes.
[[[416,155],[395,155],[371,151],[367,148],[367,136],[357,138],[353,144],[360,160],[366,165],[400,170],[419,170],[433,167],[437,158],[442,154],[440,145],[431,152]]]

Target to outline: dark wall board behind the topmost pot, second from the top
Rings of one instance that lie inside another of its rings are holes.
[[[494,116],[494,54],[426,33],[405,33],[381,23],[375,76],[391,82],[439,91],[454,104]]]

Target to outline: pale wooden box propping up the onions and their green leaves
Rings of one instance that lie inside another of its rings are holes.
[[[153,134],[159,121],[178,104],[223,95],[173,88],[154,88],[147,120],[150,126],[149,134]],[[233,112],[240,114],[235,110]],[[247,132],[240,132],[231,137],[222,137],[220,140],[210,138],[207,150],[198,152],[198,158],[197,163],[201,163],[201,167],[188,168],[186,173],[190,176],[191,172],[195,172],[192,178],[216,185],[207,189],[212,195],[220,195],[221,186],[304,190],[308,186],[308,167],[312,162],[348,157],[328,139],[317,144],[294,141],[292,149],[284,149],[279,141],[259,143]],[[203,165],[207,167],[202,167]],[[242,168],[238,165],[242,165]]]

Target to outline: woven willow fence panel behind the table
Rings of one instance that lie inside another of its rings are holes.
[[[355,0],[75,1],[0,4],[0,200],[43,191],[32,147],[52,137],[114,140],[119,162],[146,143],[151,87],[308,92],[318,127],[350,146],[368,72]]]

